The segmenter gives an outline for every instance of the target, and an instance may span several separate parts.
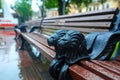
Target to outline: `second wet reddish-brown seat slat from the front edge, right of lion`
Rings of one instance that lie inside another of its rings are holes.
[[[105,68],[102,68],[92,62],[89,61],[81,61],[82,65],[84,67],[87,67],[87,69],[89,69],[91,72],[94,72],[96,74],[98,74],[99,76],[103,77],[104,79],[114,79],[114,80],[118,80],[120,79],[120,75],[117,75]]]

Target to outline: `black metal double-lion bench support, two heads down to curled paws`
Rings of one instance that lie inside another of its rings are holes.
[[[57,31],[48,39],[48,44],[55,46],[56,51],[49,69],[55,80],[72,80],[68,73],[69,66],[89,58],[84,36],[79,31]]]

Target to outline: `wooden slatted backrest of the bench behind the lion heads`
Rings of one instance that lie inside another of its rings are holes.
[[[50,35],[55,30],[78,30],[84,33],[117,30],[119,21],[117,8],[105,9],[93,12],[85,12],[74,15],[63,15],[51,18],[44,18],[42,31]],[[26,22],[28,26],[39,26],[41,19]]]

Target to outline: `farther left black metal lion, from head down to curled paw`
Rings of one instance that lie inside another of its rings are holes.
[[[61,37],[63,37],[66,34],[66,32],[66,30],[57,30],[50,38],[47,39],[48,45],[54,46],[56,52],[56,55],[49,67],[49,73],[55,80],[58,80],[59,72],[64,64],[64,51],[57,47],[57,42]]]

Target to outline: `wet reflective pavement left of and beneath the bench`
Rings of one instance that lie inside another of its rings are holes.
[[[34,63],[19,45],[13,33],[0,31],[0,80],[53,80],[48,72],[50,62],[41,55]]]

